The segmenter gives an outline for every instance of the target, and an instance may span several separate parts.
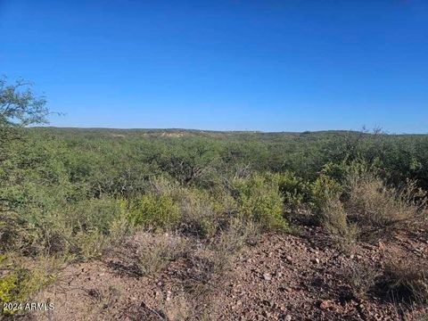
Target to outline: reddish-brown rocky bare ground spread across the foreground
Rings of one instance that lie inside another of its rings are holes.
[[[425,229],[358,243],[346,255],[334,250],[318,227],[302,227],[300,235],[262,235],[221,276],[208,276],[202,257],[176,259],[160,274],[142,276],[136,242],[64,268],[37,298],[54,302],[55,309],[26,318],[426,320],[424,307],[391,300],[371,283],[390,259],[426,264]],[[360,288],[365,295],[358,294]]]

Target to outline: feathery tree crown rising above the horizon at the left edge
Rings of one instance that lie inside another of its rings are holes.
[[[0,128],[47,123],[45,104],[45,97],[37,97],[28,81],[19,79],[8,85],[6,78],[0,78]]]

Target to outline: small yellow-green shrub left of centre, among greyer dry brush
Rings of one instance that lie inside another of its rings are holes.
[[[180,213],[177,203],[168,196],[146,194],[132,202],[129,221],[133,226],[174,226]]]

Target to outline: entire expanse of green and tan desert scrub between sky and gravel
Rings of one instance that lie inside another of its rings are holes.
[[[301,209],[342,244],[424,213],[428,136],[27,128],[47,115],[26,83],[0,81],[0,255],[23,262],[94,259],[143,231],[202,243],[212,272]],[[150,246],[147,273],[184,255]],[[2,272],[1,300],[20,273]]]

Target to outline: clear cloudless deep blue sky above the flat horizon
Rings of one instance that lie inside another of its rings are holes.
[[[53,126],[428,133],[427,0],[0,0]]]

